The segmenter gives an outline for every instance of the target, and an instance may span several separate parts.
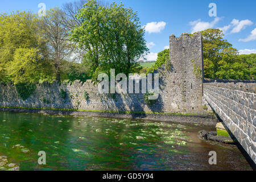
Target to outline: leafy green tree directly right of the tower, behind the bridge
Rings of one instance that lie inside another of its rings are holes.
[[[203,37],[204,76],[205,78],[250,79],[253,63],[246,63],[238,55],[219,29],[201,31]],[[251,70],[251,71],[250,71]]]

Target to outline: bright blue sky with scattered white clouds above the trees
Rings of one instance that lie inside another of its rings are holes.
[[[0,13],[33,11],[44,3],[46,9],[61,7],[74,0],[9,0],[0,2]],[[125,7],[138,11],[141,26],[150,53],[147,61],[155,61],[157,53],[168,48],[169,36],[179,37],[183,32],[196,32],[207,28],[221,28],[224,38],[241,54],[256,53],[256,1],[255,0],[105,0],[122,2]],[[214,3],[212,5],[212,3]],[[211,5],[209,7],[209,5]],[[216,8],[215,8],[216,7]]]

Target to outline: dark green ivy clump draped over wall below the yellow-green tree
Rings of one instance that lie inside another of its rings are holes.
[[[26,100],[36,89],[36,84],[30,82],[18,83],[15,85],[18,95],[22,100]]]

